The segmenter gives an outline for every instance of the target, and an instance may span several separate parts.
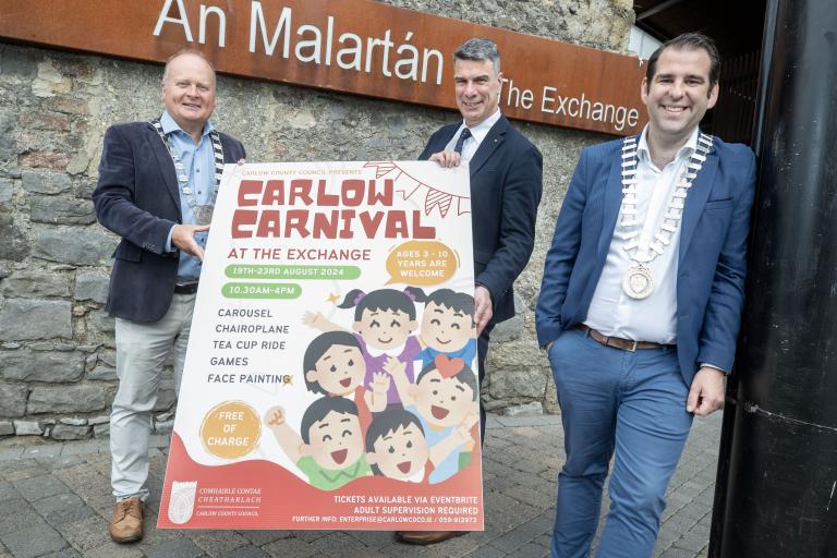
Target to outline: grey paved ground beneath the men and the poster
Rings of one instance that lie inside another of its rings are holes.
[[[674,476],[655,556],[705,558],[720,413],[696,420]],[[547,555],[558,469],[558,416],[489,416],[486,530],[432,547],[396,544],[386,532],[158,531],[167,439],[154,439],[153,500],[136,545],[108,537],[112,499],[107,442],[0,445],[0,558],[480,557]],[[605,507],[606,509],[606,507]]]

